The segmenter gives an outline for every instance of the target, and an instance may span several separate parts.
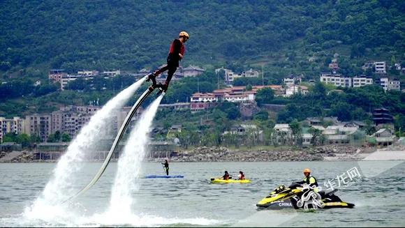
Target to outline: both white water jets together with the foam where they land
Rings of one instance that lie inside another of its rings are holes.
[[[20,224],[27,226],[218,224],[216,220],[205,218],[161,218],[149,214],[135,215],[131,211],[134,203],[131,193],[138,189],[135,180],[140,174],[140,165],[147,151],[148,135],[152,121],[163,94],[149,105],[128,137],[124,153],[119,158],[110,206],[107,211],[94,215],[83,215],[83,212],[87,210],[80,203],[61,204],[61,201],[66,199],[66,195],[72,194],[71,183],[74,183],[75,178],[78,178],[75,174],[82,168],[80,161],[82,161],[84,153],[91,150],[87,146],[88,140],[96,141],[98,136],[101,135],[102,129],[105,128],[105,121],[110,116],[110,112],[123,105],[144,81],[145,79],[141,79],[119,93],[91,117],[87,126],[81,130],[78,137],[73,140],[66,153],[59,160],[53,176],[45,186],[42,195],[36,199],[34,204],[25,208],[22,214],[24,220],[20,221],[19,219]]]

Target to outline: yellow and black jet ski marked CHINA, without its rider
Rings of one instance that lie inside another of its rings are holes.
[[[279,185],[270,192],[270,195],[256,204],[258,209],[282,209],[282,208],[353,208],[355,204],[341,201],[334,192],[316,192],[309,185],[293,183],[288,188]]]

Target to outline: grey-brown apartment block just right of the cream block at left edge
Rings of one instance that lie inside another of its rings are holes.
[[[52,116],[49,114],[33,114],[25,116],[25,132],[28,135],[38,135],[41,142],[46,142],[52,132]]]

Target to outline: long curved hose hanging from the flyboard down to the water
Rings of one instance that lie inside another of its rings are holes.
[[[147,76],[145,76],[147,77]],[[149,87],[150,88],[150,87]],[[89,190],[89,188],[91,188],[91,186],[93,186],[98,179],[101,177],[101,175],[103,174],[103,172],[105,171],[105,169],[107,168],[108,164],[110,163],[110,160],[112,158],[112,154],[115,152],[115,150],[117,149],[117,146],[119,144],[119,141],[121,141],[122,136],[124,136],[124,132],[126,130],[126,128],[128,128],[129,123],[131,122],[131,119],[133,117],[133,115],[136,113],[136,111],[138,110],[138,108],[140,107],[140,105],[142,104],[142,102],[144,102],[144,100],[154,91],[155,88],[153,89],[147,89],[144,93],[142,93],[142,96],[140,96],[140,98],[135,102],[135,104],[133,105],[133,107],[131,108],[131,111],[128,113],[128,115],[126,116],[125,120],[124,120],[124,124],[122,124],[121,128],[119,129],[119,132],[117,134],[117,137],[115,137],[114,142],[112,143],[110,152],[108,152],[107,158],[105,158],[103,165],[101,165],[100,169],[98,169],[97,174],[94,176],[94,178],[90,181],[89,184],[86,185],[86,187],[84,187],[82,190],[80,190],[80,192],[78,192],[76,195],[74,195],[73,197],[70,197],[68,199],[66,199],[64,202],[68,202],[69,200],[78,197],[80,195],[82,195],[84,192],[86,192],[87,190]],[[161,91],[159,91],[158,94],[160,94]],[[63,202],[63,203],[64,203]]]

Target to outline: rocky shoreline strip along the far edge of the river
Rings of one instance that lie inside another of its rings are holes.
[[[311,146],[299,148],[293,146],[253,146],[239,149],[224,146],[200,146],[188,150],[172,153],[149,153],[145,162],[161,162],[168,158],[170,162],[272,162],[272,161],[322,161],[322,160],[363,160],[367,155],[383,151],[405,151],[405,146],[396,145],[383,149],[363,146]],[[36,151],[18,151],[15,158],[5,160],[6,155],[13,152],[1,152],[0,162],[57,162],[59,159],[37,160],[34,159]],[[88,162],[103,162],[103,158],[89,159]],[[117,158],[112,160],[117,161]]]

